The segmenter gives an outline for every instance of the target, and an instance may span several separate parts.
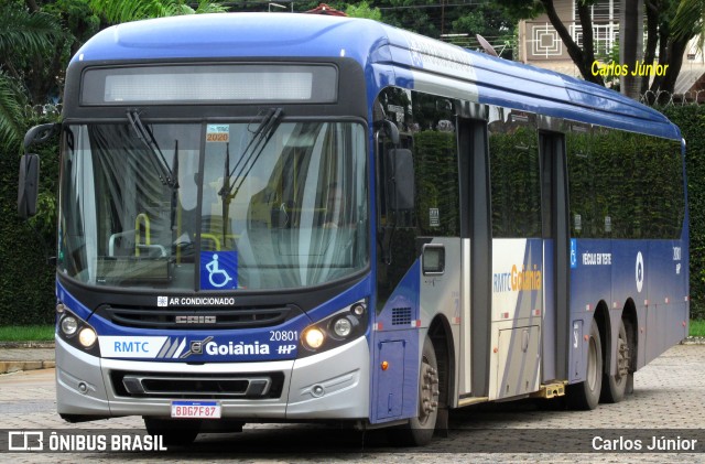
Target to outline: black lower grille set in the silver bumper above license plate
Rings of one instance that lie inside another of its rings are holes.
[[[113,370],[110,378],[116,396],[131,398],[280,398],[284,384],[282,373],[232,375]]]

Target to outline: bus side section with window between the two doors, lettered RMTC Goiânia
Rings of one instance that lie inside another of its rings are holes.
[[[536,117],[489,108],[490,400],[539,390],[544,262]],[[475,271],[475,270],[474,270]],[[474,309],[477,311],[478,309]]]

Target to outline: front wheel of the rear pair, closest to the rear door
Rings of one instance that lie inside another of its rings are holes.
[[[597,408],[603,388],[603,344],[593,320],[587,347],[587,366],[585,381],[568,385],[568,407],[571,409],[590,410]]]

